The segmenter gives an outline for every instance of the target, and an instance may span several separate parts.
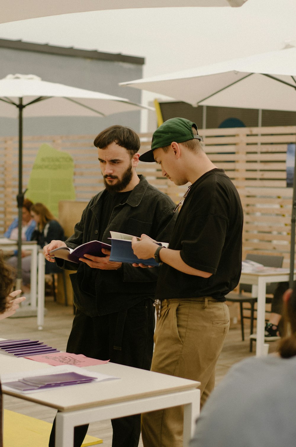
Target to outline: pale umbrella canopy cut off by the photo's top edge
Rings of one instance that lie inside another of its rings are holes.
[[[247,0],[2,0],[0,23],[103,9],[241,6]]]

